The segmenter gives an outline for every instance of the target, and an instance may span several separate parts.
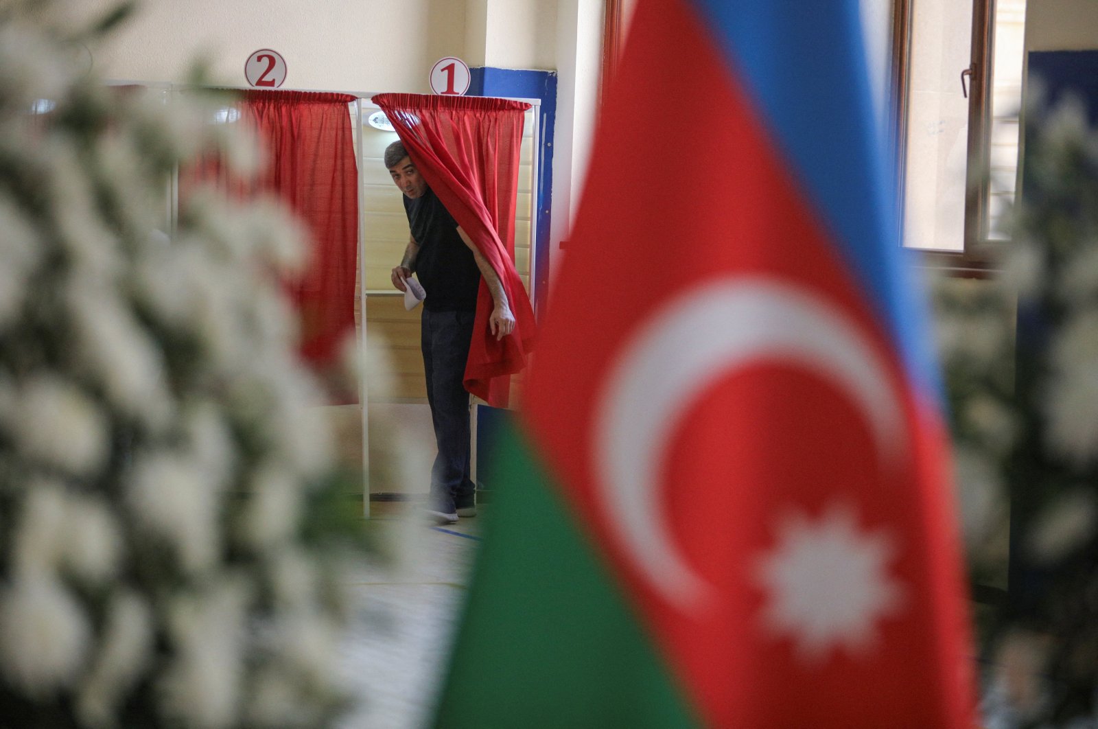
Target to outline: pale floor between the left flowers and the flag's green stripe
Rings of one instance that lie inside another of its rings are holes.
[[[357,704],[339,729],[418,729],[445,669],[479,543],[478,519],[430,527],[414,506],[372,504],[371,529],[392,562],[365,564],[351,585],[356,616],[343,642]]]

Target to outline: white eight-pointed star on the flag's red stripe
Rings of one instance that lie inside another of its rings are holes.
[[[888,536],[859,529],[849,508],[834,505],[817,520],[792,515],[755,565],[765,623],[809,662],[839,648],[865,653],[877,623],[903,604],[903,587],[887,571],[892,554]]]

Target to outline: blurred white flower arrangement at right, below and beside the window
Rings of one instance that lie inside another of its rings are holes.
[[[1001,273],[938,287],[940,346],[974,581],[1009,557],[982,626],[985,726],[1094,727],[1098,136],[1072,100],[1029,108],[1024,128],[1012,240],[991,253]]]

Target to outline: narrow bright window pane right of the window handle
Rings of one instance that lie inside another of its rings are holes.
[[[1022,94],[1026,0],[996,0],[991,66],[990,200],[987,237],[1005,239],[1002,213],[1015,199],[1018,176],[1018,109]]]

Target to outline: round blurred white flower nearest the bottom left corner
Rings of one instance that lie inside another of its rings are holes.
[[[56,580],[16,579],[0,594],[0,671],[27,695],[70,685],[88,648],[87,618]]]

